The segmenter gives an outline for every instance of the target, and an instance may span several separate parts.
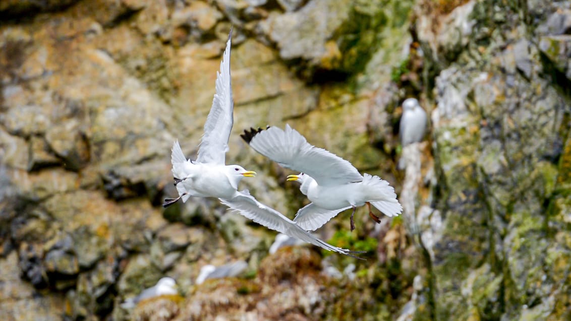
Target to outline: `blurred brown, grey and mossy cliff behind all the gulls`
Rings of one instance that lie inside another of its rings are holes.
[[[400,103],[431,116],[416,210],[318,232],[367,261],[268,256],[275,233],[216,200],[160,207],[231,26],[227,160],[289,217],[305,197],[244,128],[289,123],[400,194]],[[0,319],[571,319],[570,61],[568,0],[0,0]],[[182,296],[119,307],[163,275]]]

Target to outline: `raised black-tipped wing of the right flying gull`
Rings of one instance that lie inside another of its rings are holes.
[[[278,127],[266,130],[252,128],[240,136],[256,152],[286,168],[308,174],[321,186],[363,180],[363,176],[349,161],[307,143],[305,137],[289,125],[286,125],[285,131]]]

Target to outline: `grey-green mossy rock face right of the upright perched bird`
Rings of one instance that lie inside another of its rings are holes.
[[[435,319],[571,317],[570,3],[526,3],[469,1],[417,29],[436,75]]]

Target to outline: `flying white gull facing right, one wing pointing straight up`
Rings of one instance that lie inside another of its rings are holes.
[[[354,257],[351,253],[360,252],[341,249],[321,241],[282,213],[258,202],[248,190],[238,190],[238,183],[242,178],[253,177],[256,173],[245,170],[242,166],[225,165],[228,138],[234,123],[234,101],[230,82],[231,37],[232,31],[220,63],[220,72],[216,73],[216,94],[204,124],[198,157],[194,161],[187,160],[178,141],[172,145],[172,174],[179,197],[167,198],[163,206],[170,206],[181,198],[186,202],[191,196],[217,197],[224,205],[260,225],[323,249]]]

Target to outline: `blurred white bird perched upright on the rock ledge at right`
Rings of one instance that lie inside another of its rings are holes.
[[[403,116],[400,117],[399,136],[400,144],[405,147],[408,144],[417,143],[424,137],[427,126],[427,113],[419,105],[415,98],[403,101]]]

